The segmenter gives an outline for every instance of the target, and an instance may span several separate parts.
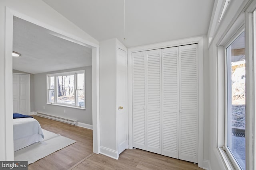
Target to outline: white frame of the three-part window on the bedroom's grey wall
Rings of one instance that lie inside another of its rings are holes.
[[[78,89],[78,78],[77,78],[77,74],[84,74],[84,89]],[[65,103],[61,103],[58,102],[58,84],[57,84],[57,77],[58,76],[70,76],[70,75],[74,75],[74,100],[75,100],[75,104],[65,104]],[[54,77],[54,89],[50,89],[50,77]],[[46,75],[46,79],[47,79],[47,104],[51,104],[51,105],[56,105],[56,106],[65,106],[65,107],[73,107],[73,108],[77,108],[77,109],[86,109],[86,96],[85,96],[85,70],[78,70],[78,71],[71,71],[71,72],[60,72],[60,73],[54,73],[54,74],[47,74]],[[52,103],[51,101],[49,101],[49,91],[50,90],[54,90],[54,103]],[[78,100],[77,100],[77,93],[80,90],[84,90],[84,107],[82,106],[78,106]]]

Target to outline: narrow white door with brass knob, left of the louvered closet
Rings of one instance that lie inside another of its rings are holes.
[[[128,148],[128,113],[126,106],[127,96],[127,64],[126,51],[117,49],[117,79],[116,79],[116,97],[117,97],[117,139],[118,154]]]

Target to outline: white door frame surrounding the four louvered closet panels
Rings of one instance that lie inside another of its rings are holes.
[[[132,53],[140,51],[148,51],[154,49],[162,49],[168,47],[176,47],[181,45],[189,45],[198,43],[198,78],[199,78],[199,120],[198,120],[198,166],[203,167],[204,162],[204,50],[207,49],[207,39],[205,36],[191,37],[187,39],[180,39],[174,41],[166,41],[163,43],[156,43],[144,45],[139,47],[128,48],[128,127],[129,127],[129,149],[133,148],[133,129],[132,129]],[[205,45],[204,45],[205,44]]]

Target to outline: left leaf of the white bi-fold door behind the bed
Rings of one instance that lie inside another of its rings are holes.
[[[19,74],[12,74],[13,113],[20,113],[20,78]]]

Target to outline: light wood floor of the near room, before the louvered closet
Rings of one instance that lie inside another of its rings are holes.
[[[118,160],[94,154],[73,170],[202,170],[196,164],[140,149],[124,150]]]

